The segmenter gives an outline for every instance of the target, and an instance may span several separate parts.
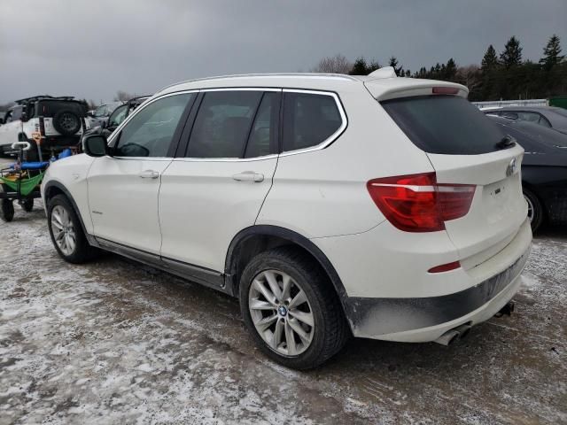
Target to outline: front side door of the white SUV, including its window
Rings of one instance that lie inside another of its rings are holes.
[[[89,208],[99,239],[158,255],[158,192],[196,93],[159,97],[111,136],[112,156],[89,169]]]

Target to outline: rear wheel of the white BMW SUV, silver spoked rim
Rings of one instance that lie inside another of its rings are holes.
[[[268,298],[264,297],[264,291],[259,290],[258,283],[264,290],[268,289],[268,293],[274,294],[269,290],[269,274],[272,274],[272,283],[276,282],[281,292],[283,280],[290,282],[289,297],[283,295],[279,300],[272,298],[274,303],[266,302]],[[306,301],[293,305],[301,290]],[[285,367],[303,370],[320,366],[340,351],[350,336],[345,315],[328,276],[315,260],[293,247],[276,248],[254,257],[245,267],[239,292],[245,325],[256,344],[270,359]],[[255,306],[252,310],[251,305]],[[276,321],[273,321],[274,317]],[[257,326],[263,328],[269,321],[272,321],[271,324],[260,335]],[[313,326],[308,322],[312,322]],[[303,336],[293,331],[298,325]],[[276,336],[278,334],[279,337]],[[288,344],[290,336],[292,345]],[[272,343],[268,344],[268,340]]]

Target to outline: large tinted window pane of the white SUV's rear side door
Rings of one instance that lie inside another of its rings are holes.
[[[189,140],[188,158],[242,158],[261,91],[209,91]]]

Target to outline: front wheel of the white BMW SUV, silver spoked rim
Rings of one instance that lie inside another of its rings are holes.
[[[95,257],[97,249],[90,246],[73,206],[64,195],[50,199],[47,225],[51,242],[62,259],[80,264]]]

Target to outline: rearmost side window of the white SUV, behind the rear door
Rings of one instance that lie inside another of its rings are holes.
[[[316,146],[334,135],[342,124],[334,97],[294,92],[284,94],[284,152]]]

